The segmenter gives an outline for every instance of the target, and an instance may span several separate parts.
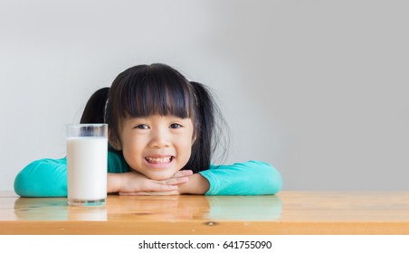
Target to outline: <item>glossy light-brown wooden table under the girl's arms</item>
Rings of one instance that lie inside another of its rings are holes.
[[[118,196],[106,206],[0,192],[0,234],[409,234],[409,192]]]

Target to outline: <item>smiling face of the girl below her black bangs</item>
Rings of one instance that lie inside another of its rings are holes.
[[[193,122],[174,116],[133,117],[120,135],[129,166],[154,180],[173,176],[189,161],[194,143]]]

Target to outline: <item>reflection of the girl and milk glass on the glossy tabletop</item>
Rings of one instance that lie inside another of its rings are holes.
[[[109,196],[102,206],[65,198],[17,198],[16,220],[277,220],[282,203],[268,196]]]

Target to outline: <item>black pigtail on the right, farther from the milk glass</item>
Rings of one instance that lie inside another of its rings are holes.
[[[224,156],[226,143],[222,144],[222,142],[227,141],[228,138],[224,136],[222,129],[226,126],[224,118],[221,117],[220,109],[214,103],[210,90],[201,83],[195,81],[190,83],[195,92],[197,108],[195,117],[198,120],[195,120],[195,144],[192,147],[191,163],[187,164],[186,169],[193,168],[194,173],[197,173],[210,167],[216,149],[218,156]]]

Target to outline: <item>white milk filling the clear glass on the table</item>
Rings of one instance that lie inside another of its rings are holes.
[[[68,201],[105,200],[107,163],[107,138],[67,138]]]

